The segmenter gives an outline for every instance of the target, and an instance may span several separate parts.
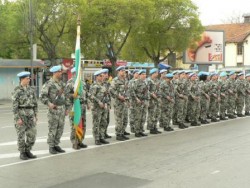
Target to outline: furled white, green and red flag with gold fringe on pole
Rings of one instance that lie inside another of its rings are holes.
[[[74,84],[74,106],[73,106],[73,114],[74,114],[74,126],[76,131],[76,137],[78,140],[82,140],[83,138],[83,127],[84,121],[82,117],[82,109],[80,100],[76,96],[81,96],[83,93],[83,85],[81,79],[81,49],[80,49],[80,20],[78,19],[77,23],[77,36],[76,36],[76,49],[75,49],[75,68],[76,68],[76,76],[75,76],[75,84]]]

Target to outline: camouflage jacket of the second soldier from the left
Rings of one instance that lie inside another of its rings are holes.
[[[40,99],[43,104],[48,105],[49,103],[57,106],[65,105],[64,95],[65,83],[62,81],[55,81],[53,78],[48,80],[42,87]]]

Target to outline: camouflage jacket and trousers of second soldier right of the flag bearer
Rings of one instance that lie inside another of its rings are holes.
[[[126,100],[122,101],[118,97],[119,95],[127,98],[127,80],[119,77],[115,77],[110,86],[111,97],[114,98],[114,114],[115,114],[115,131],[118,137],[123,137],[126,126],[124,125],[127,118],[127,104]],[[128,98],[127,98],[128,99]]]

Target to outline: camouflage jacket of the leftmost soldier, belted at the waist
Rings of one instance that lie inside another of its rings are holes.
[[[38,105],[35,89],[17,86],[12,92],[12,107],[14,119],[17,121],[21,116],[37,116]]]

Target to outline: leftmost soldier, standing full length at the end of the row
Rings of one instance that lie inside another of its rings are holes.
[[[36,141],[38,106],[35,90],[29,86],[30,72],[20,72],[17,76],[20,85],[12,93],[14,122],[20,159],[27,160],[36,158],[30,150]]]

